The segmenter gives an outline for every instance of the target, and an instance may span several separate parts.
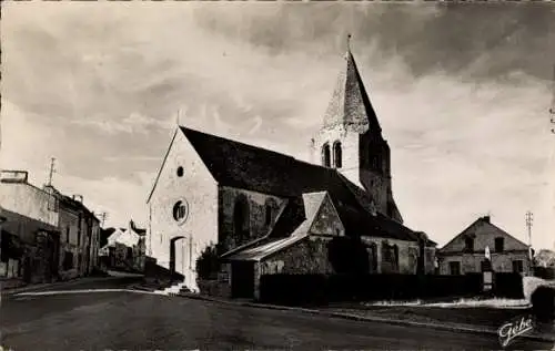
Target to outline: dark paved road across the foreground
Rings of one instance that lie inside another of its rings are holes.
[[[17,351],[500,349],[496,338],[488,335],[133,292],[12,297],[2,302],[0,328],[2,344]],[[553,345],[517,341],[513,347]]]

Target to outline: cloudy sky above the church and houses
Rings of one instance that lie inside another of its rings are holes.
[[[2,168],[145,226],[175,124],[309,159],[347,33],[405,225],[555,248],[548,3],[2,3]],[[178,113],[180,111],[180,113]],[[179,117],[178,117],[179,115]]]

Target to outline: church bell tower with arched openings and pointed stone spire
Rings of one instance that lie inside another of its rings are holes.
[[[377,211],[402,223],[392,195],[390,146],[351,52],[347,37],[345,65],[311,143],[312,159],[335,168],[366,190]]]

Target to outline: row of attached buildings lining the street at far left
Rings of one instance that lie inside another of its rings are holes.
[[[2,171],[0,278],[24,282],[85,276],[97,265],[100,220],[82,197],[36,187],[26,171]]]

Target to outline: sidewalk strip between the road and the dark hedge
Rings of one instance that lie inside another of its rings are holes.
[[[153,288],[144,287],[144,286],[134,286],[132,289],[143,290],[143,291],[154,291]],[[289,311],[297,311],[310,314],[320,314],[327,316],[331,318],[341,318],[356,321],[366,321],[366,322],[381,322],[396,326],[411,326],[417,328],[433,328],[437,330],[448,330],[454,332],[467,332],[467,333],[480,333],[480,334],[497,334],[497,328],[500,328],[504,322],[508,321],[511,318],[515,316],[525,314],[523,310],[515,310],[514,313],[506,310],[497,309],[495,317],[488,319],[487,316],[480,320],[480,318],[471,319],[473,323],[462,323],[462,322],[453,322],[447,321],[450,314],[452,314],[454,309],[451,308],[434,308],[434,313],[430,314],[430,310],[426,311],[427,308],[415,307],[418,310],[407,311],[406,307],[396,308],[396,307],[380,307],[377,309],[341,309],[341,308],[301,308],[301,307],[286,307],[286,306],[276,306],[276,304],[266,304],[266,303],[258,303],[251,300],[236,300],[236,299],[224,299],[224,298],[214,298],[208,296],[201,296],[196,293],[170,293],[170,296],[195,299],[195,300],[204,300],[216,303],[224,304],[234,304],[234,306],[243,306],[251,308],[264,308],[264,309],[273,309],[273,310],[289,310]],[[465,313],[464,309],[456,309],[457,314],[452,314],[451,320],[460,318],[461,313]],[[491,312],[491,311],[488,311]],[[428,316],[426,316],[428,314]],[[437,318],[438,316],[444,316],[445,318]],[[468,320],[468,319],[466,319]],[[555,323],[551,323],[548,326],[538,326],[537,330],[533,332],[522,335],[519,338],[535,340],[535,341],[547,341],[555,342]]]

